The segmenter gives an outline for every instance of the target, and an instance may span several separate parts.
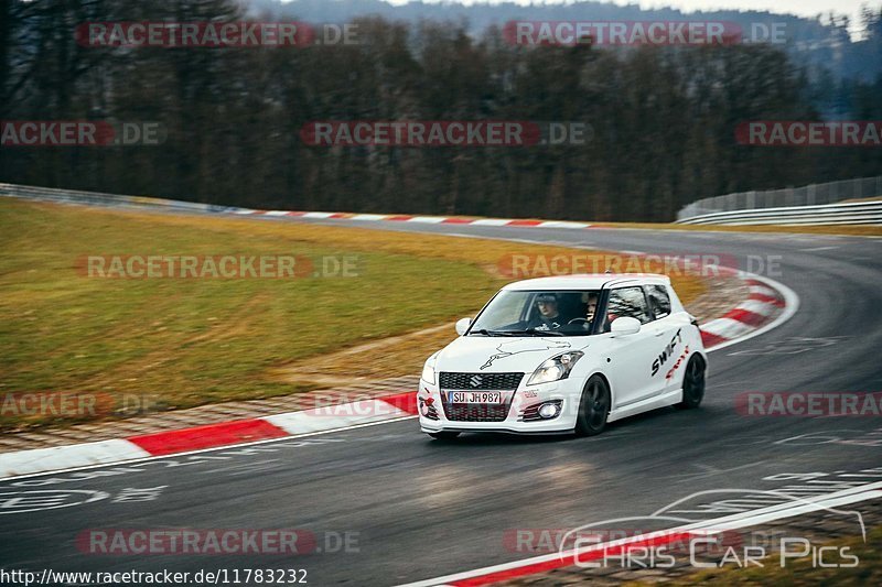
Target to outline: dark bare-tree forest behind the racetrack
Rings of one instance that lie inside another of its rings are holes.
[[[355,17],[359,44],[90,48],[86,21],[261,20],[228,0],[0,0],[0,120],[149,120],[161,146],[2,148],[0,182],[259,208],[670,220],[696,199],[882,174],[880,148],[756,148],[746,120],[882,119],[882,73],[793,47],[515,47],[499,23]],[[290,15],[288,17],[290,18]],[[266,19],[263,19],[266,20]],[[867,12],[861,51],[882,47]],[[843,40],[848,43],[848,40]],[[873,48],[875,47],[875,48]],[[584,145],[321,148],[312,120],[579,121]]]

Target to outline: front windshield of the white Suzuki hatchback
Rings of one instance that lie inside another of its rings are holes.
[[[502,291],[477,317],[470,336],[588,336],[598,290]]]

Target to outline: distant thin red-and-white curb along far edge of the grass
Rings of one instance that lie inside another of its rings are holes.
[[[358,220],[418,222],[424,225],[474,225],[474,226],[518,226],[535,228],[599,228],[599,225],[570,220],[529,220],[518,218],[463,218],[460,216],[415,216],[408,214],[353,214],[343,211],[291,211],[238,209],[233,214],[244,216],[271,216],[289,218],[313,218],[319,220]]]

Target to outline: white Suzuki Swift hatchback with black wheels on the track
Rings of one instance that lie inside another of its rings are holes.
[[[426,361],[420,428],[600,433],[667,405],[697,407],[708,357],[670,280],[587,274],[510,283]]]

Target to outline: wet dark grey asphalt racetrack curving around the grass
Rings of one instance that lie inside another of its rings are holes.
[[[7,480],[0,482],[8,506],[0,510],[3,567],[302,568],[310,585],[397,585],[531,556],[513,548],[516,529],[571,529],[648,515],[704,490],[793,489],[809,479],[796,474],[818,474],[810,478],[831,487],[845,479],[882,479],[881,450],[873,443],[882,432],[878,416],[765,417],[734,407],[736,395],[749,391],[882,390],[882,240],[326,222],[646,253],[729,254],[742,269],[746,256],[779,256],[779,273],[770,276],[799,296],[799,308],[782,326],[711,352],[699,410],[632,417],[593,438],[469,434],[441,443],[407,420],[250,450]],[[718,499],[696,496],[677,507],[677,515],[720,515],[712,507]],[[321,552],[116,556],[85,553],[77,542],[95,529],[181,528],[304,529]]]

